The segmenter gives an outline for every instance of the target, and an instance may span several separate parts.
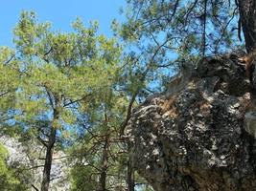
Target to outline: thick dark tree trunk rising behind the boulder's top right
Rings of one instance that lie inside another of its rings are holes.
[[[238,0],[247,53],[256,50],[256,0]]]

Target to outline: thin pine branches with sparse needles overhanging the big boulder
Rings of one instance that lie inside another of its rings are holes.
[[[127,20],[115,20],[112,29],[128,45],[127,75],[142,78],[142,97],[163,91],[161,82],[180,66],[241,46],[235,1],[127,0],[125,14]]]

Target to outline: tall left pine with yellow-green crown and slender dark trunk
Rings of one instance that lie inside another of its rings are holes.
[[[53,152],[64,132],[76,131],[76,118],[90,110],[95,96],[108,90],[118,69],[121,50],[115,39],[96,35],[97,23],[74,32],[53,32],[24,11],[14,30],[23,70],[16,91],[15,120],[45,147],[41,191],[49,190]]]

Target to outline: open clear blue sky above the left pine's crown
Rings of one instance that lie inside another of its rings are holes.
[[[21,11],[35,11],[39,21],[50,21],[63,32],[78,16],[85,25],[98,20],[99,32],[110,36],[110,23],[122,20],[119,9],[125,5],[126,0],[6,0],[0,6],[0,46],[12,46],[12,30]]]

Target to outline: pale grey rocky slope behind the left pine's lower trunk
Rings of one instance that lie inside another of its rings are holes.
[[[8,136],[0,136],[2,143],[9,152],[8,164],[15,168],[26,169],[31,174],[30,182],[28,182],[31,190],[35,190],[31,185],[39,188],[42,180],[44,149],[31,141],[28,145],[23,145],[18,138],[10,138]],[[69,167],[67,159],[63,152],[55,152],[51,169],[51,191],[66,191],[70,189],[68,181]]]

